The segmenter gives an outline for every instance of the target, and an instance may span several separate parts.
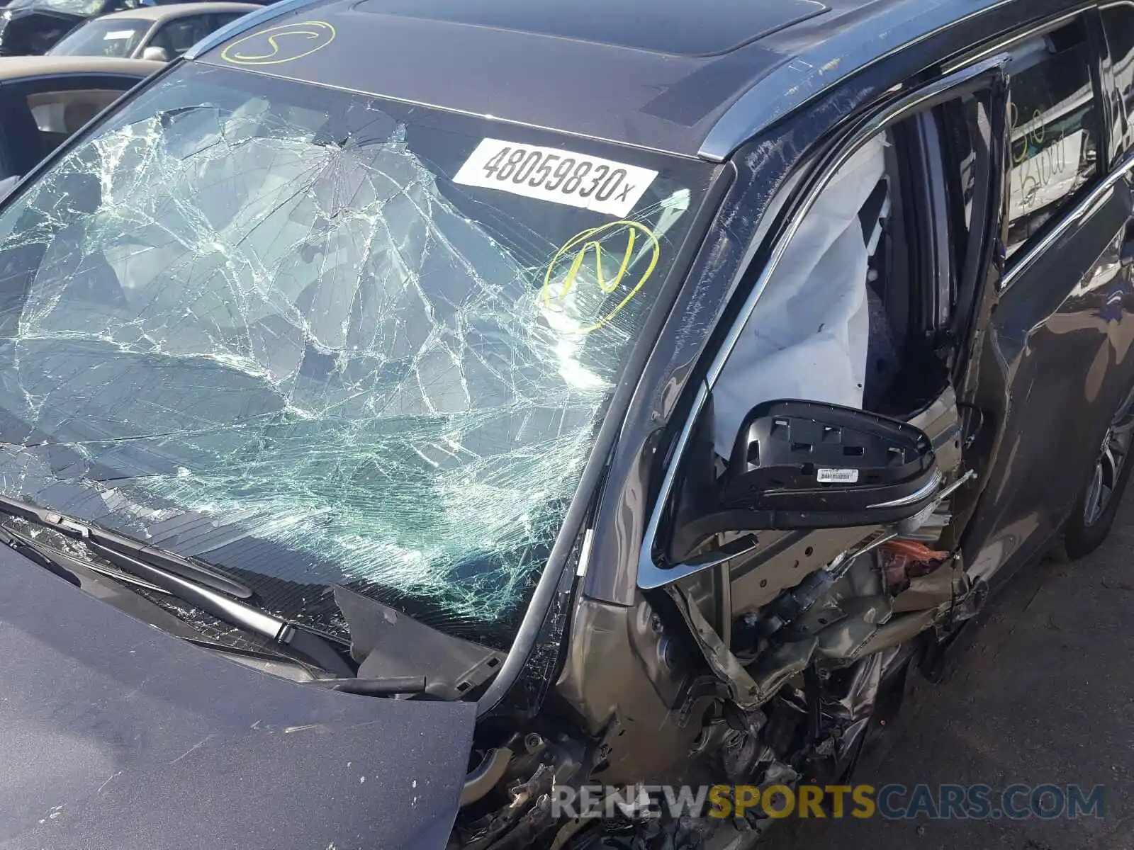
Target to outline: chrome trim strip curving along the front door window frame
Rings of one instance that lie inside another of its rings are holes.
[[[822,167],[822,173],[805,192],[799,207],[795,211],[795,213],[793,213],[787,227],[778,238],[775,247],[772,248],[772,254],[768,258],[768,263],[761,270],[760,277],[753,284],[752,291],[748,294],[739,314],[733,322],[733,325],[729,329],[728,334],[725,337],[720,349],[714,355],[704,380],[701,381],[697,386],[693,405],[689,408],[687,418],[685,419],[682,431],[677,437],[677,443],[674,447],[672,457],[666,468],[665,475],[662,476],[661,487],[658,491],[658,498],[654,502],[653,510],[650,512],[650,520],[646,524],[645,536],[642,542],[642,547],[638,551],[637,586],[641,589],[649,590],[661,587],[662,585],[667,585],[679,578],[691,576],[705,569],[704,564],[701,563],[675,564],[669,568],[659,567],[654,563],[653,549],[657,544],[661,515],[666,505],[669,504],[670,496],[672,495],[674,482],[677,477],[677,469],[685,454],[685,449],[688,445],[694,425],[704,409],[705,402],[709,400],[709,393],[712,392],[713,385],[720,377],[720,374],[725,368],[725,363],[728,360],[733,349],[736,347],[736,342],[755,309],[756,303],[760,300],[760,296],[768,286],[768,282],[775,273],[776,267],[779,265],[779,262],[784,258],[788,244],[795,237],[799,229],[799,224],[803,222],[804,216],[811,211],[811,207],[819,198],[819,195],[824,188],[827,188],[827,185],[831,181],[831,178],[833,178],[838,169],[841,168],[843,164],[845,164],[847,160],[849,160],[855,152],[874,135],[882,131],[890,125],[896,124],[897,121],[900,121],[902,119],[916,112],[934,97],[947,94],[955,88],[959,88],[966,83],[979,79],[981,76],[997,74],[1002,77],[1006,73],[1009,59],[1010,58],[1007,54],[1000,54],[991,59],[985,59],[984,61],[974,62],[960,71],[957,71],[948,77],[940,77],[929,85],[903,96],[895,103],[882,109],[862,127],[860,127],[853,137],[840,147],[839,152]],[[752,255],[754,255],[756,247],[758,246],[755,245],[750,246],[748,255],[745,257],[745,263],[741,266],[733,281],[730,281],[730,291],[735,291],[739,286],[742,278],[748,269],[748,264],[751,263]]]

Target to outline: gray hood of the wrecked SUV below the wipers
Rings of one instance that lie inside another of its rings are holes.
[[[442,848],[475,705],[184,643],[0,547],[0,847]]]

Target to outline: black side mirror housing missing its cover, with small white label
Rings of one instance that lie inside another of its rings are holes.
[[[930,439],[897,419],[814,401],[744,418],[720,490],[746,528],[839,528],[916,516],[941,484]]]

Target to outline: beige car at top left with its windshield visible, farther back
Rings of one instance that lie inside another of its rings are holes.
[[[175,3],[116,11],[71,29],[48,56],[107,56],[168,62],[214,29],[262,7]]]

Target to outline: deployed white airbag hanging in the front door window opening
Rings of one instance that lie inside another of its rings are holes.
[[[731,453],[755,405],[862,407],[870,322],[858,213],[885,173],[882,135],[836,172],[804,216],[713,388],[713,441]]]

